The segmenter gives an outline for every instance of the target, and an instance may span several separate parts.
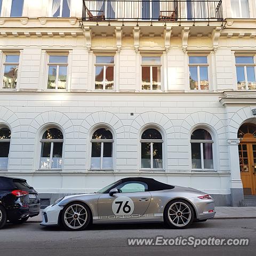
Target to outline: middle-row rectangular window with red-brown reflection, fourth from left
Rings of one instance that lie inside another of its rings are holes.
[[[142,56],[141,89],[161,90],[161,57]]]

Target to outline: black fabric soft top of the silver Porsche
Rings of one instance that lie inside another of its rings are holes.
[[[126,181],[140,181],[145,182],[148,185],[148,191],[157,191],[157,190],[165,190],[165,189],[173,189],[174,186],[162,183],[160,181],[154,180],[152,178],[144,178],[144,177],[133,177],[133,178],[124,178],[120,180],[120,184]]]

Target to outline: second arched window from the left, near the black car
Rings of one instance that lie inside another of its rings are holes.
[[[40,169],[61,169],[63,134],[57,128],[47,129],[41,139]]]

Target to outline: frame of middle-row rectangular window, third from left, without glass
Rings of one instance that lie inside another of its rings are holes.
[[[96,59],[97,57],[114,57],[114,63],[96,63]],[[116,77],[116,73],[115,73],[115,63],[116,63],[116,55],[115,54],[95,54],[94,55],[94,81],[93,81],[93,90],[97,91],[97,92],[101,92],[101,91],[105,91],[105,92],[113,92],[115,90],[115,85],[116,85],[116,81],[115,81],[115,77]],[[96,67],[101,67],[103,66],[103,81],[102,81],[102,86],[103,89],[95,89],[95,79],[96,79]],[[113,69],[113,89],[106,89],[106,84],[105,84],[105,79],[106,79],[106,67],[114,67]]]

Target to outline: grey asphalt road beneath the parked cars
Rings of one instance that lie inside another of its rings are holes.
[[[194,236],[196,238],[249,238],[249,246],[128,246],[127,238]],[[0,230],[2,256],[62,255],[255,255],[256,219],[213,219],[189,229],[167,229],[161,223],[94,225],[89,230],[65,231],[38,223],[7,224]]]

